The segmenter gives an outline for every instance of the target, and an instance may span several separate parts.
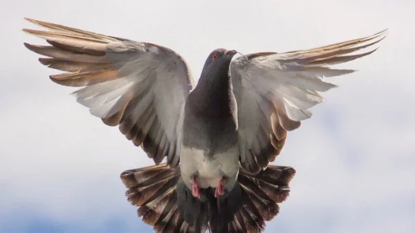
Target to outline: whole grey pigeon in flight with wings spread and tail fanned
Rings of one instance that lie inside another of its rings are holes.
[[[128,200],[155,232],[262,232],[279,213],[295,175],[271,165],[287,132],[311,117],[335,69],[369,52],[386,30],[291,52],[212,51],[194,83],[173,50],[34,19],[24,29],[49,45],[24,43],[62,70],[55,83],[80,87],[77,102],[116,126],[155,165],[120,175]],[[165,163],[162,163],[165,161]]]

